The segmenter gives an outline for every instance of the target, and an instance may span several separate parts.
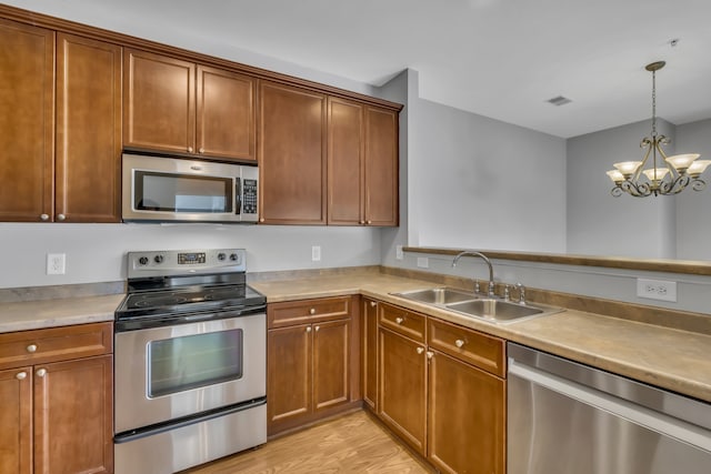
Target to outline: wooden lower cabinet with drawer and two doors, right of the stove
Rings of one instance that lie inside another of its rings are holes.
[[[359,374],[358,355],[352,351],[358,337],[352,334],[351,306],[351,297],[346,296],[274,303],[268,307],[269,435],[357,403],[353,379]],[[284,321],[304,322],[309,317],[314,322],[281,327]]]

